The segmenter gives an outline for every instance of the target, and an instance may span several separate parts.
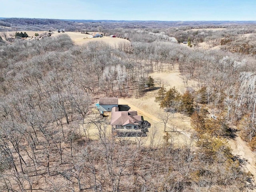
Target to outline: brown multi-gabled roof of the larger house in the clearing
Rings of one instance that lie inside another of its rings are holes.
[[[110,125],[138,125],[141,120],[136,111],[118,111],[118,107],[113,107]]]

